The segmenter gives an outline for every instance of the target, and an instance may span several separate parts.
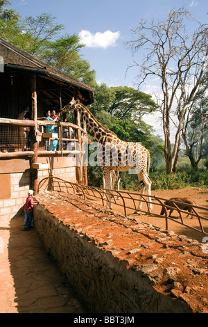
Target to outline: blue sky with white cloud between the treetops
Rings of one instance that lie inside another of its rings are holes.
[[[126,74],[134,57],[125,42],[131,40],[131,29],[139,26],[141,18],[166,20],[169,10],[184,6],[201,24],[208,21],[207,0],[10,0],[10,3],[21,17],[49,13],[65,26],[62,34],[82,35],[87,46],[80,54],[96,70],[96,81],[107,86],[137,88],[136,68]],[[139,61],[138,55],[135,59]],[[142,90],[151,94],[154,82]],[[146,119],[154,125],[156,134],[162,135],[162,127],[155,121],[154,117]]]

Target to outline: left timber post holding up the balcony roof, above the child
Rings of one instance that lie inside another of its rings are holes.
[[[32,99],[32,119],[35,122],[35,126],[31,131],[31,150],[34,151],[32,163],[37,163],[37,150],[38,150],[38,143],[37,143],[37,91],[36,91],[36,75],[31,76],[31,99]],[[32,169],[31,173],[31,183],[32,188],[34,191],[34,195],[37,194],[37,169]]]

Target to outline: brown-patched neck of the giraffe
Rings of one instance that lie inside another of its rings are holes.
[[[85,120],[89,133],[94,141],[104,145],[105,142],[112,142],[117,139],[116,134],[103,127],[85,106],[79,105],[77,110],[80,112],[80,115],[82,115],[83,120]]]

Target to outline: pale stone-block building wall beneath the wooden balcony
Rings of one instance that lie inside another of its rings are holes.
[[[76,167],[66,166],[67,161],[54,158],[53,175],[62,180],[76,182]],[[49,176],[48,169],[38,170],[40,182]],[[10,219],[24,214],[24,203],[31,189],[29,159],[0,160],[0,226],[8,227]]]

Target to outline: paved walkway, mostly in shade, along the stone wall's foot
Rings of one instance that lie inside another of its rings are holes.
[[[24,217],[0,225],[0,313],[85,313],[35,230]]]

